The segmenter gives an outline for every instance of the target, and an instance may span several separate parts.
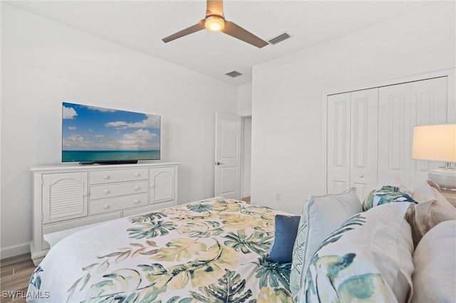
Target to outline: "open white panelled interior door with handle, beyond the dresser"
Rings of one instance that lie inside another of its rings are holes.
[[[241,118],[215,114],[215,196],[239,199],[241,176]]]

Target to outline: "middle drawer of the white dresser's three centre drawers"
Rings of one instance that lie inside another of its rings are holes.
[[[90,186],[90,200],[149,193],[149,181]]]

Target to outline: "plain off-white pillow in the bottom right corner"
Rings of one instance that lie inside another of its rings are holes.
[[[456,220],[439,223],[421,239],[413,255],[412,302],[455,302]]]

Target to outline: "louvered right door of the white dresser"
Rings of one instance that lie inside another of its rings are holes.
[[[150,203],[175,200],[175,168],[150,169]]]

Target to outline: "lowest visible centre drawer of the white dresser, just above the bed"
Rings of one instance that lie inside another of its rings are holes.
[[[112,198],[103,201],[90,203],[90,216],[98,213],[108,213],[110,211],[120,211],[125,208],[146,206],[149,201],[147,193],[142,195],[133,195],[120,198]]]

